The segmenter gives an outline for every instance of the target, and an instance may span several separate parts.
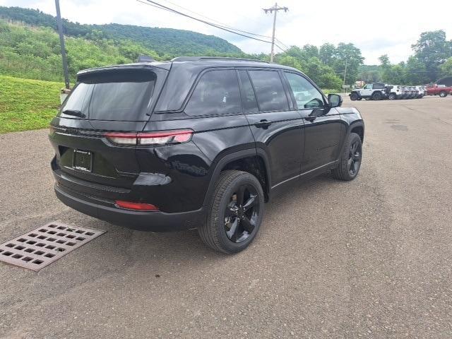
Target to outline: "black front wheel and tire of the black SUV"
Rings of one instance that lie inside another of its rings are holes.
[[[353,149],[355,148],[355,152]],[[355,179],[362,162],[362,143],[357,133],[350,133],[340,156],[339,165],[333,169],[333,177],[350,181]]]

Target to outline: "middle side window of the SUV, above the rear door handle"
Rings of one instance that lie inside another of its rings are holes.
[[[289,104],[278,71],[249,71],[261,112],[287,111]]]

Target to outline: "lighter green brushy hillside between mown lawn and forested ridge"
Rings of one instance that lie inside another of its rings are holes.
[[[66,37],[71,79],[81,69],[135,62],[139,54],[159,59],[155,51],[129,40],[87,40]],[[0,74],[18,78],[61,81],[59,37],[52,28],[32,28],[0,19]]]

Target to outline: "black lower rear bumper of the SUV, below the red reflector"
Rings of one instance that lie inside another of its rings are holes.
[[[109,207],[86,201],[81,196],[75,196],[61,186],[55,185],[57,198],[66,206],[94,218],[124,226],[132,230],[150,232],[171,232],[188,230],[198,227],[203,221],[203,209],[182,213],[163,213],[160,211],[141,212]]]

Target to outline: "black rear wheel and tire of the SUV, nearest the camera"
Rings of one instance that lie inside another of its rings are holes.
[[[264,211],[261,183],[248,172],[221,172],[210,201],[206,220],[198,228],[203,242],[226,254],[246,249],[261,227]]]

